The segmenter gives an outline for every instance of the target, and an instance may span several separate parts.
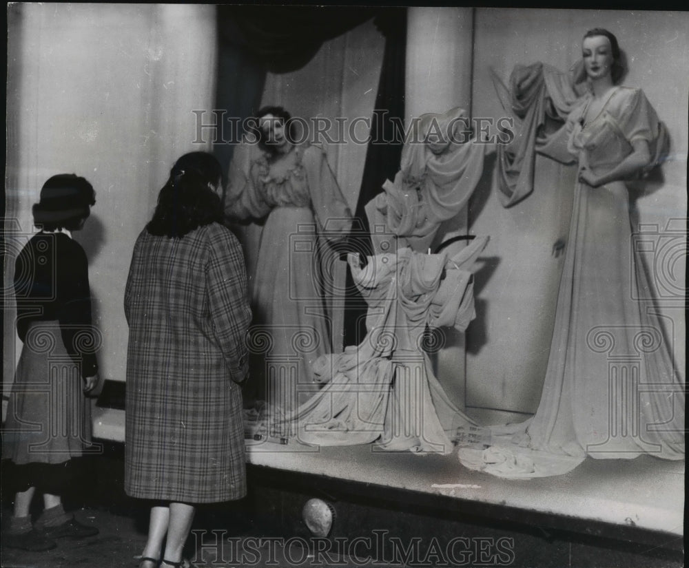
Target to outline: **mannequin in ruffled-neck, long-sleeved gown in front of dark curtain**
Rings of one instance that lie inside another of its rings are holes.
[[[267,401],[278,419],[313,392],[313,361],[331,353],[327,264],[351,211],[325,151],[293,143],[285,109],[264,107],[255,120],[256,137],[229,167],[225,216],[243,232],[254,313],[247,399]]]

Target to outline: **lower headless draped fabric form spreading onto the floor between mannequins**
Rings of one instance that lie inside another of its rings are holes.
[[[433,375],[424,330],[463,331],[475,317],[471,266],[487,242],[477,239],[453,257],[403,248],[369,257],[364,267],[358,255],[348,255],[369,303],[367,336],[316,361],[314,379],[325,386],[278,430],[301,443],[376,442],[419,454],[485,442],[489,432],[453,405]]]

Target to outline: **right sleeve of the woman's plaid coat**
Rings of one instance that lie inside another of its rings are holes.
[[[249,368],[247,331],[251,308],[242,249],[232,231],[213,225],[207,265],[207,294],[214,335],[232,380],[240,383]]]

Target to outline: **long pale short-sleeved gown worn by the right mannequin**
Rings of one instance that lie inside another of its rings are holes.
[[[566,124],[540,151],[555,151],[560,138],[571,161],[584,158],[600,174],[630,154],[635,140],[646,140],[654,163],[661,160],[666,134],[641,90],[614,87],[601,112],[585,123],[590,98],[570,96]],[[460,449],[460,461],[471,469],[528,478],[564,474],[586,456],[683,459],[684,384],[661,319],[643,300],[653,297],[653,288],[633,246],[628,188],[621,181],[578,182],[574,191],[537,412],[524,423],[493,427],[486,450]]]

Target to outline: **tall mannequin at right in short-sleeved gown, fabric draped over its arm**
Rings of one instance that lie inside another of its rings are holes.
[[[493,428],[483,452],[460,449],[464,465],[497,476],[563,474],[586,456],[684,456],[684,385],[659,317],[638,299],[652,297],[652,287],[632,246],[626,185],[659,163],[666,130],[641,90],[616,85],[613,34],[590,30],[582,54],[583,96],[546,65],[517,68],[511,80],[511,107],[524,105],[524,120],[517,147],[499,149],[504,204],[531,191],[535,151],[579,169],[537,412]],[[546,117],[558,116],[564,126],[545,134]]]

